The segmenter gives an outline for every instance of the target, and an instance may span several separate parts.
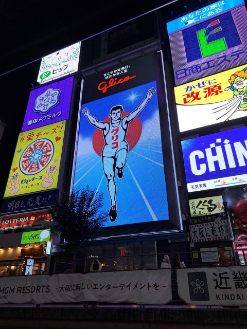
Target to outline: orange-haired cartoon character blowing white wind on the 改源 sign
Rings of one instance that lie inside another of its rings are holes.
[[[236,71],[228,80],[231,85],[225,90],[232,90],[233,98],[219,102],[220,106],[213,108],[213,113],[218,116],[217,120],[225,118],[225,121],[238,117],[237,112],[247,110],[247,67]],[[240,113],[239,113],[240,114]]]

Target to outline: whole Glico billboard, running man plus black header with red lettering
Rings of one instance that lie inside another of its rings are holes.
[[[150,55],[84,81],[73,189],[103,193],[105,226],[169,219],[153,62]]]

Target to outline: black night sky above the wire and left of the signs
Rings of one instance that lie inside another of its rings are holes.
[[[149,10],[170,3],[167,0],[140,2],[85,0],[2,0],[0,2],[0,120],[6,124],[0,144],[0,204],[12,157],[21,131],[31,83],[35,83],[40,58],[108,29]],[[179,0],[165,10],[170,20],[208,3]],[[25,65],[27,63],[31,64]],[[21,65],[22,68],[15,69]],[[11,71],[12,70],[12,71]],[[11,72],[8,72],[11,71]],[[5,74],[8,72],[7,74]]]

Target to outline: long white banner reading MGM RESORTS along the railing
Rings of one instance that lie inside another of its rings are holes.
[[[0,278],[0,303],[167,304],[171,270],[139,270]]]

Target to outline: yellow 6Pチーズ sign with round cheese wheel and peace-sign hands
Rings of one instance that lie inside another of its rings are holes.
[[[64,130],[60,121],[19,135],[4,197],[57,187]]]

